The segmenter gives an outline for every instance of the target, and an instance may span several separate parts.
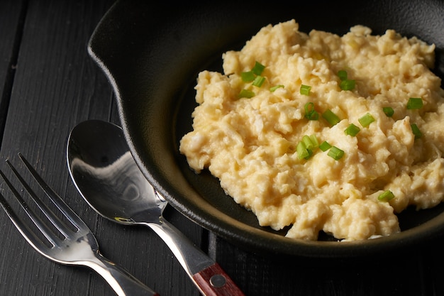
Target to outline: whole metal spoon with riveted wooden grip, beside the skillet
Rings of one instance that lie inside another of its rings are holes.
[[[203,295],[244,295],[222,268],[166,221],[165,199],[139,170],[123,131],[105,121],[84,121],[72,129],[67,163],[74,185],[101,216],[154,230]]]

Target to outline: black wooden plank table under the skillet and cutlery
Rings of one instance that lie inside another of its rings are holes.
[[[89,37],[112,2],[0,1],[0,158],[16,163],[17,153],[23,153],[87,222],[104,256],[160,295],[199,295],[150,229],[102,219],[78,194],[67,171],[71,128],[86,119],[119,124],[111,86],[87,53]],[[6,170],[3,161],[0,168]],[[282,259],[233,246],[174,209],[167,214],[245,295],[444,295],[443,238],[374,258]],[[0,295],[114,295],[88,268],[40,256],[3,212],[0,225]]]

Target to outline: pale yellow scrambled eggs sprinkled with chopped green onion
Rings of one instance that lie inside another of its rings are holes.
[[[434,49],[365,26],[343,36],[302,33],[294,20],[265,26],[223,54],[224,74],[199,74],[180,152],[261,226],[291,226],[289,238],[396,233],[396,213],[443,200]]]

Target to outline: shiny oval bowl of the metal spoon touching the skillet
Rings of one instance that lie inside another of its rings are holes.
[[[138,169],[120,127],[101,121],[79,124],[70,134],[67,158],[77,189],[101,216],[143,224],[147,217],[158,221],[162,215],[167,202]],[[150,215],[140,216],[147,211]]]

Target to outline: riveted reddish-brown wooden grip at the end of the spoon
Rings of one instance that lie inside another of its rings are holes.
[[[218,263],[193,275],[206,296],[245,296]]]

